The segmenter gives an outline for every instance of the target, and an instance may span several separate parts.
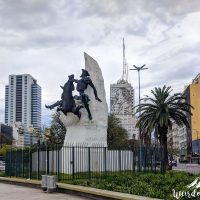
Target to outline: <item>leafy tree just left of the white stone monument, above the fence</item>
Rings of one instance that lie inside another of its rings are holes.
[[[52,115],[51,127],[46,129],[45,137],[50,145],[63,145],[65,140],[66,128],[60,120],[60,113]]]

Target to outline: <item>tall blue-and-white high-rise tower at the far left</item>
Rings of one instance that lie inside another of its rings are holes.
[[[41,128],[41,87],[29,74],[9,75],[5,87],[5,123]]]

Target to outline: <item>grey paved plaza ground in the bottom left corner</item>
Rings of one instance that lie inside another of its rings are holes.
[[[39,189],[0,183],[1,200],[87,200],[62,193],[44,193]]]

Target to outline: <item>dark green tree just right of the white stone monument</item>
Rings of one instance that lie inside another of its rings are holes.
[[[121,126],[121,121],[115,115],[108,116],[107,143],[109,148],[128,145],[128,132]]]

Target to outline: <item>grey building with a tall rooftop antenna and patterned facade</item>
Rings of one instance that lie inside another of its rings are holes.
[[[121,120],[121,125],[128,131],[129,139],[137,139],[134,116],[134,89],[128,83],[128,65],[125,59],[125,45],[123,39],[123,75],[116,83],[110,85],[110,113]]]

